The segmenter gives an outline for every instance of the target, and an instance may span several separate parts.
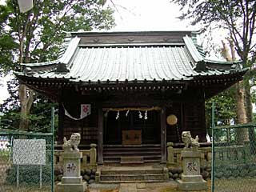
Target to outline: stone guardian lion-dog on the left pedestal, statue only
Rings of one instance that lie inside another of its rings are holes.
[[[79,151],[78,145],[80,143],[81,136],[78,133],[71,134],[70,140],[66,140],[66,137],[63,138],[63,150],[64,151]]]

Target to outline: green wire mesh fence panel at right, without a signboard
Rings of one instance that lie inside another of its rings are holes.
[[[213,190],[256,192],[256,125],[214,127]]]

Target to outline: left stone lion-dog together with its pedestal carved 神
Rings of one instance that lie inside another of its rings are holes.
[[[86,182],[82,182],[81,158],[82,152],[78,150],[80,134],[72,134],[70,140],[64,138],[62,154],[63,159],[63,177],[62,182],[58,183],[58,192],[84,192]]]

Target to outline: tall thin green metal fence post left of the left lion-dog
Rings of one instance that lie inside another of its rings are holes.
[[[52,141],[51,141],[51,191],[54,192],[54,106],[51,107],[51,133],[52,133]]]

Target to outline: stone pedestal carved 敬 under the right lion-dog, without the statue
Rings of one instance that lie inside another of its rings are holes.
[[[206,190],[207,182],[200,174],[201,151],[182,150],[182,180],[178,180],[178,190]]]

